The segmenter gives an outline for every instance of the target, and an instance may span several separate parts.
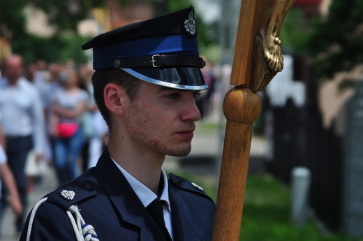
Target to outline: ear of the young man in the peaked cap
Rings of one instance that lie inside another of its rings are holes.
[[[116,115],[124,114],[125,97],[124,89],[114,83],[109,83],[103,89],[103,101],[108,110]]]

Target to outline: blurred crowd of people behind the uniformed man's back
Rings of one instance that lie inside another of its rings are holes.
[[[5,153],[0,152],[0,175],[6,187],[1,204],[13,206],[19,232],[27,214],[13,198],[27,207],[27,195],[47,166],[64,184],[95,166],[107,145],[108,127],[94,103],[92,73],[87,64],[27,64],[17,54],[1,64],[0,144]]]

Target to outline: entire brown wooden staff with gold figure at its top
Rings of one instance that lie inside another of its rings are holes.
[[[295,0],[244,0],[241,4],[214,219],[213,241],[239,240],[253,123],[261,110],[258,93],[282,71],[279,34]],[[271,8],[271,13],[270,12]]]

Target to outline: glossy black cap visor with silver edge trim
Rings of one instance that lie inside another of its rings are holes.
[[[127,73],[140,80],[173,89],[203,90],[208,89],[197,67],[179,68],[123,68]]]

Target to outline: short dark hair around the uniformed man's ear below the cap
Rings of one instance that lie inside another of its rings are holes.
[[[133,75],[126,73],[121,68],[110,68],[94,72],[92,75],[94,101],[96,102],[98,110],[100,110],[101,115],[103,116],[103,119],[105,119],[109,129],[112,128],[110,112],[105,105],[105,101],[103,101],[103,90],[105,89],[105,86],[109,83],[119,85],[126,90],[128,98],[130,98],[131,101],[134,101],[138,94],[141,81],[142,80],[135,78]]]

